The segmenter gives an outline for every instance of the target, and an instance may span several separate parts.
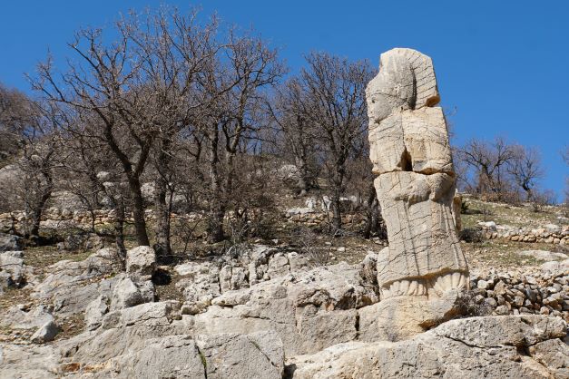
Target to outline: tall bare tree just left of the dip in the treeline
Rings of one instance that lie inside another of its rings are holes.
[[[223,219],[233,196],[235,157],[254,146],[266,127],[261,105],[265,89],[276,84],[285,68],[275,49],[260,38],[230,32],[221,56],[201,76],[201,102],[207,104],[193,124],[203,138],[209,180],[209,238],[223,238]]]

